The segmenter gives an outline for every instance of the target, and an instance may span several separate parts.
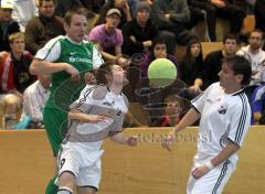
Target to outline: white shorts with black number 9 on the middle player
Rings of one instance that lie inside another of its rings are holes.
[[[76,143],[78,144],[78,143]],[[59,177],[63,172],[75,176],[76,186],[93,186],[98,188],[102,177],[100,157],[104,150],[87,150],[84,147],[63,144],[59,152]]]

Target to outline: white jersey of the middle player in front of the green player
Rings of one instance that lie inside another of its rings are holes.
[[[115,95],[106,86],[87,85],[81,93],[80,99],[71,108],[89,115],[106,115],[107,119],[97,123],[71,120],[67,144],[78,144],[88,150],[98,150],[102,140],[120,132],[125,114],[128,111],[128,100],[125,95]]]

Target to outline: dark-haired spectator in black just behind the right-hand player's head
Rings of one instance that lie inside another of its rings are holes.
[[[209,53],[203,62],[203,89],[211,84],[219,82],[219,72],[222,67],[222,60],[236,53],[240,45],[234,34],[226,34],[223,37],[223,48]]]

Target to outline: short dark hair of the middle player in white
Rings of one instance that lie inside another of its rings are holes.
[[[107,84],[106,75],[112,74],[112,67],[116,65],[115,61],[108,61],[102,64],[96,72],[96,79],[98,84]]]

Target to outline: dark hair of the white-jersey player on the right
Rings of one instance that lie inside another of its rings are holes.
[[[250,84],[252,77],[252,67],[251,63],[246,58],[234,55],[223,58],[222,62],[226,63],[231,67],[231,69],[234,72],[234,75],[243,75],[243,79],[241,82],[242,87],[245,87]]]

